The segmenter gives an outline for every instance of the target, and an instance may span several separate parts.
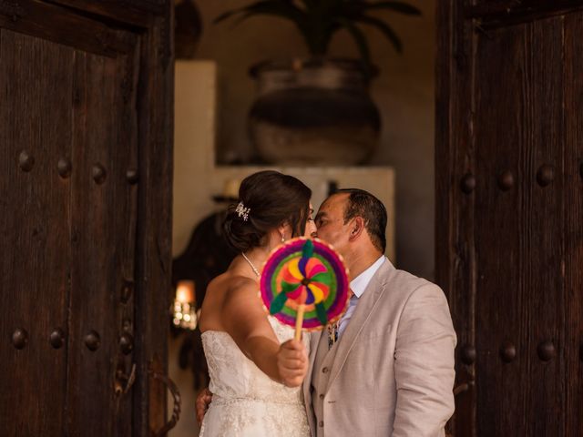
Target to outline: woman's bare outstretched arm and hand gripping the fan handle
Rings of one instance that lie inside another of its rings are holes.
[[[299,386],[308,371],[305,347],[297,340],[280,346],[257,293],[255,281],[241,279],[234,284],[221,310],[223,326],[239,349],[272,380]]]

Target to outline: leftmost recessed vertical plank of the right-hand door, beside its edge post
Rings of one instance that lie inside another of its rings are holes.
[[[523,26],[516,26],[498,31],[492,39],[480,37],[477,43],[473,193],[477,435],[524,435],[518,430],[525,418],[513,414],[515,405],[525,401],[521,388],[527,381],[522,367],[528,360],[528,332],[523,329],[527,296],[517,277],[525,261],[519,231],[525,183],[519,119],[524,114],[524,98],[517,92],[522,89],[524,69],[506,62],[524,59],[523,36]],[[510,359],[513,348],[516,357]]]

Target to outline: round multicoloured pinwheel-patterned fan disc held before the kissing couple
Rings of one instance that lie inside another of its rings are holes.
[[[340,319],[348,305],[348,290],[343,259],[319,239],[285,242],[271,252],[261,272],[266,309],[282,323],[295,326],[304,305],[303,330],[320,330]]]

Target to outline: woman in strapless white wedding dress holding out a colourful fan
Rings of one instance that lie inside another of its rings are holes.
[[[302,397],[309,335],[293,340],[292,327],[267,315],[258,279],[271,249],[316,230],[311,196],[299,179],[276,171],[240,185],[224,222],[240,256],[210,282],[199,320],[213,393],[200,436],[310,436]]]

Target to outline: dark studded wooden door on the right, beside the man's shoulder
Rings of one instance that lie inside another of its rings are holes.
[[[452,432],[583,435],[583,2],[447,1],[438,37]]]

